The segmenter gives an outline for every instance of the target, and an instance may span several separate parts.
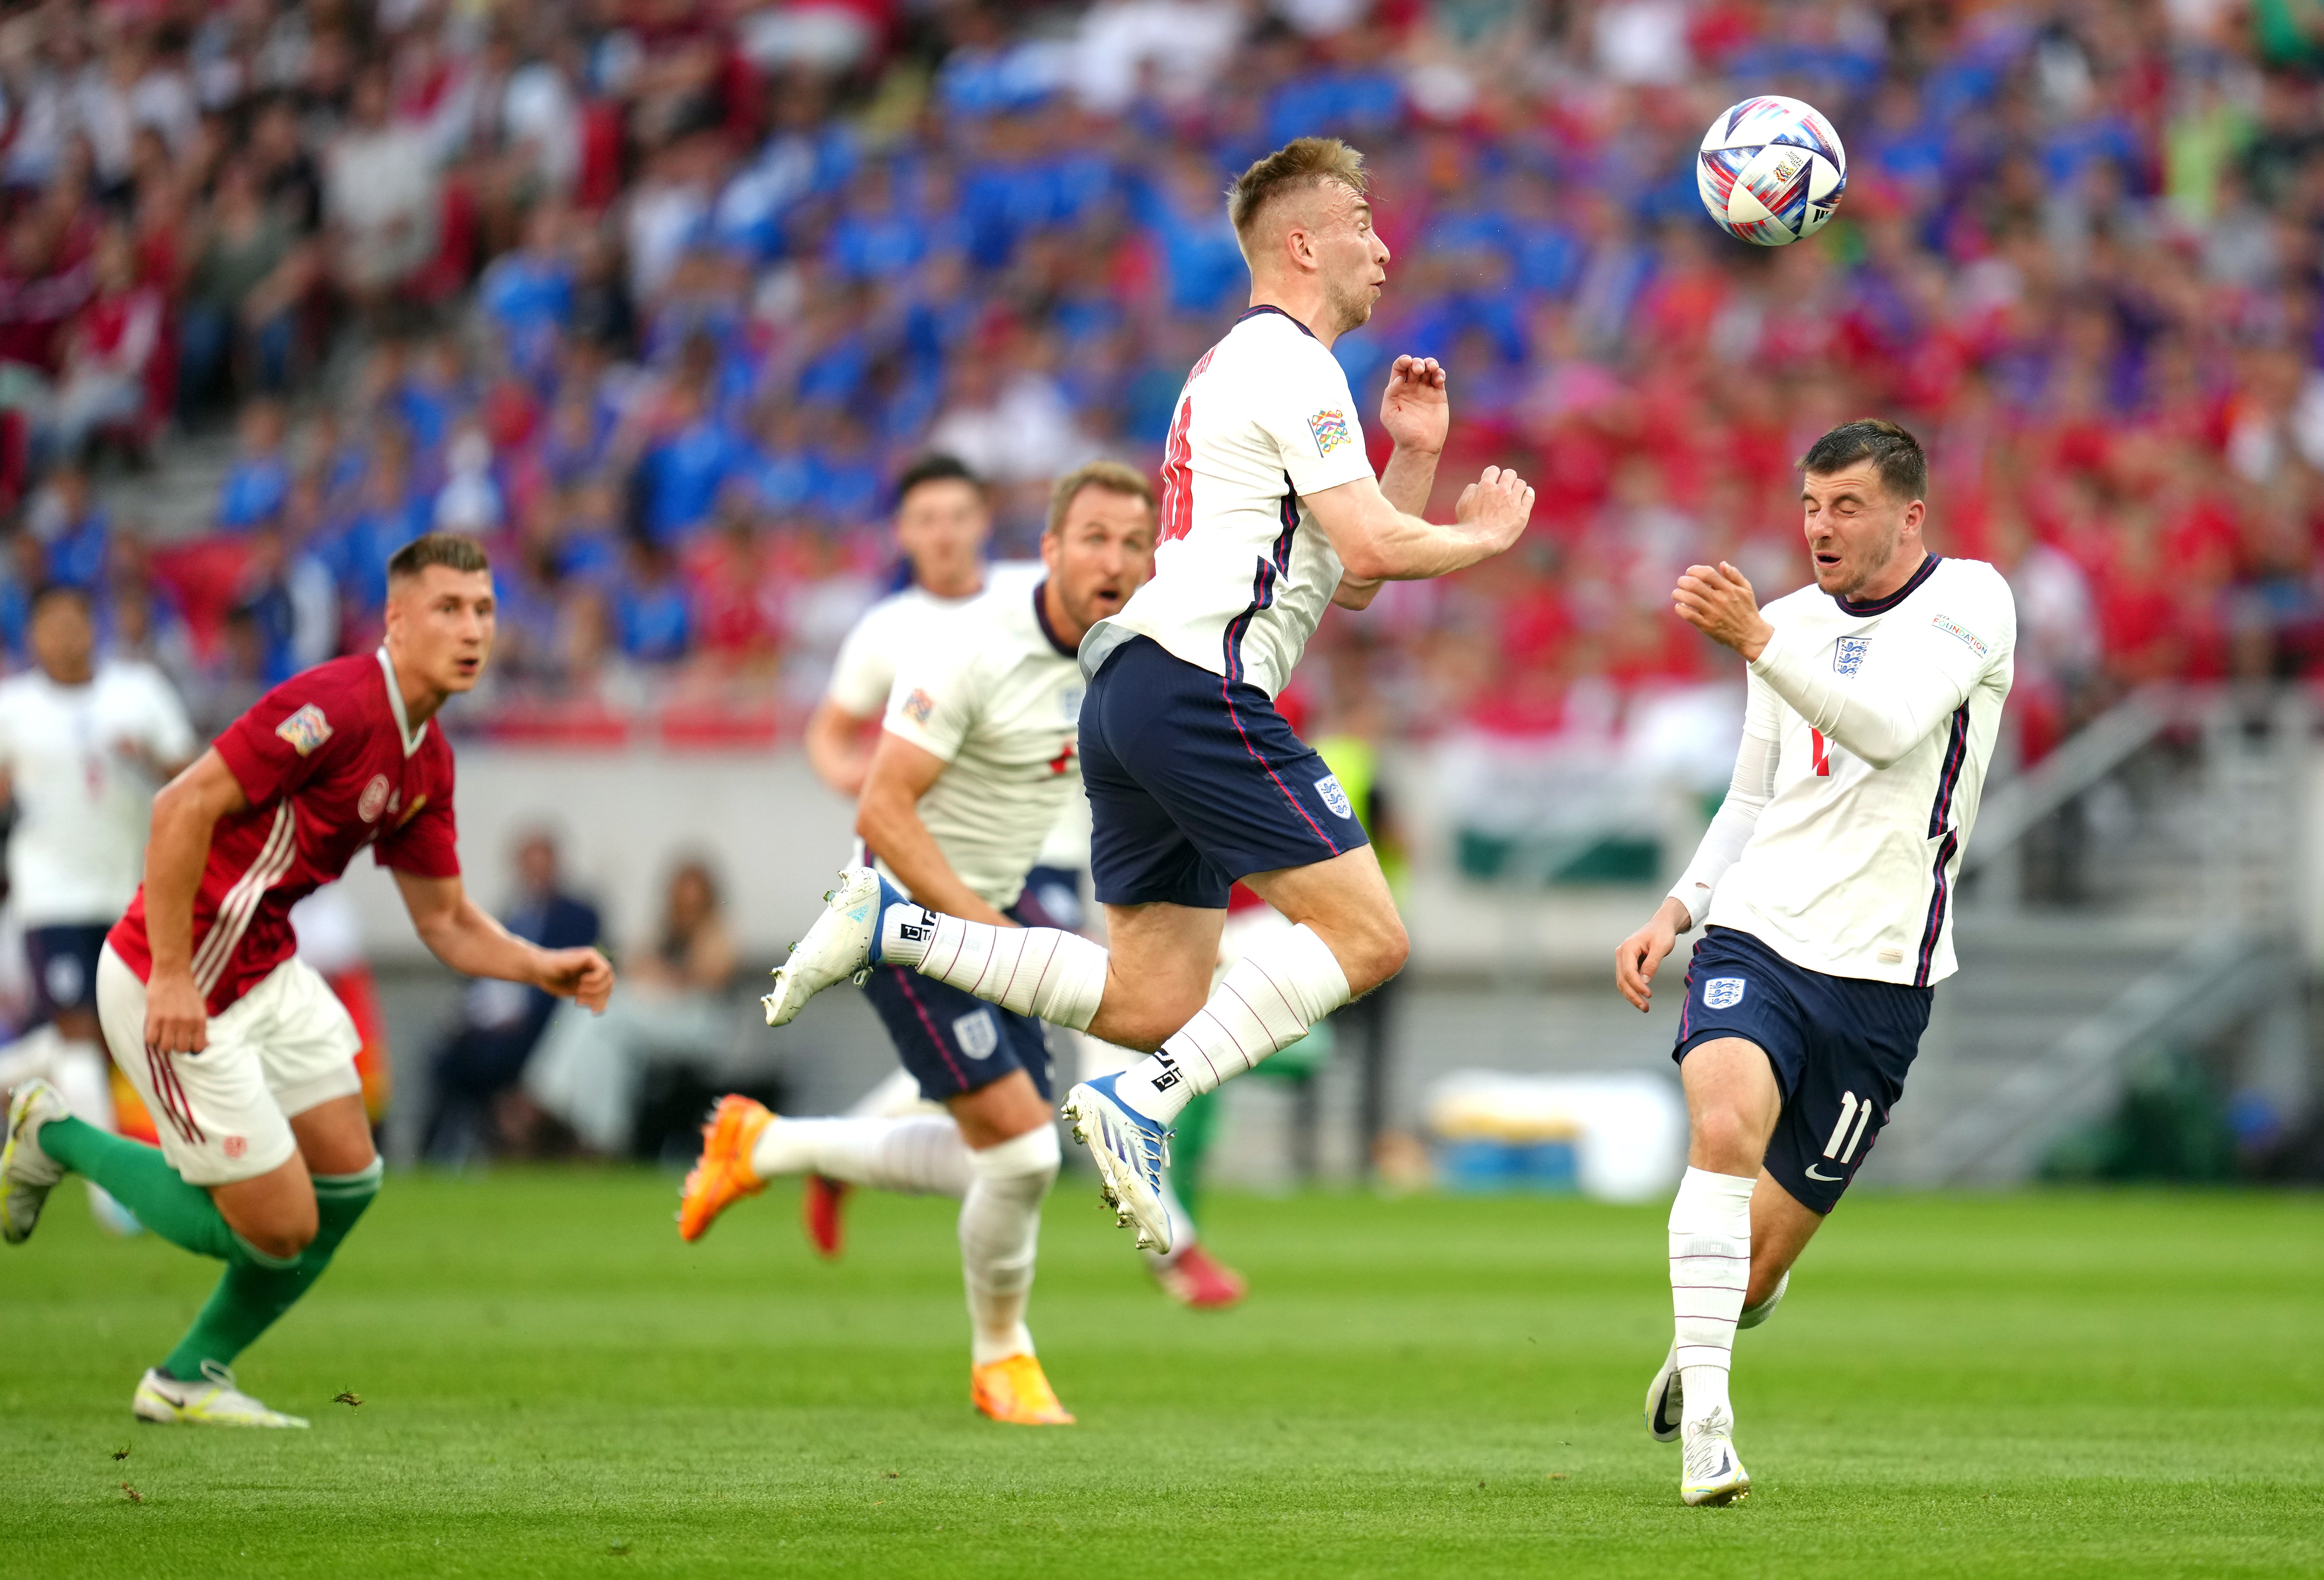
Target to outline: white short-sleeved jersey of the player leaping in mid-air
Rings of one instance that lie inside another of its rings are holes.
[[[1274,697],[1339,590],[1308,495],[1371,476],[1348,374],[1304,323],[1253,307],[1178,393],[1162,451],[1155,576],[1083,641],[1129,637]]]

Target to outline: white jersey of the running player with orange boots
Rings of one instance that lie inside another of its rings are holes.
[[[920,823],[997,911],[1018,902],[1025,869],[1081,795],[1081,665],[1039,599],[1039,586],[997,588],[923,627],[881,725],[951,764],[920,797]]]

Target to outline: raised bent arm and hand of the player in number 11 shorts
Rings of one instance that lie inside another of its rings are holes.
[[[1975,683],[1973,662],[1882,662],[1880,685],[1845,685],[1815,655],[1785,644],[1734,565],[1692,565],[1671,592],[1678,618],[1750,662],[1752,676],[1792,704],[1815,730],[1875,769],[1892,767],[1927,741],[1961,706]],[[1908,637],[1899,632],[1896,641]],[[1964,648],[1964,655],[1968,651]],[[1882,653],[1882,658],[1887,658]]]

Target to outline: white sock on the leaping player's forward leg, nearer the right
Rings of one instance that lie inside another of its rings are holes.
[[[1211,1001],[1113,1083],[1113,1094],[1169,1125],[1178,1111],[1271,1053],[1290,1048],[1348,1001],[1348,974],[1304,922],[1236,960]]]

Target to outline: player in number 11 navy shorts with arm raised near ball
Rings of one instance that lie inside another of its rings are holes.
[[[1813,588],[1762,611],[1731,565],[1697,565],[1671,595],[1750,665],[1743,748],[1694,864],[1615,950],[1643,1011],[1678,934],[1708,922],[1671,1055],[1692,1118],[1671,1204],[1678,1334],[1645,1396],[1648,1431],[1683,1438],[1687,1503],[1750,1492],[1734,1334],[1783,1299],[1954,971],[1952,883],[2017,646],[2001,574],[1922,546],[1913,435],[1843,423],[1801,472]]]

